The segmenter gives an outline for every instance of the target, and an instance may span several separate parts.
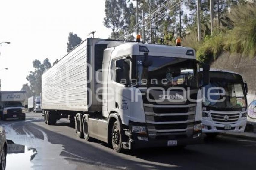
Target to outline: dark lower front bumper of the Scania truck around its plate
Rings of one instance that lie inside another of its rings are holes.
[[[175,139],[173,139],[175,141]],[[172,140],[172,141],[173,141]],[[184,138],[177,139],[177,145],[172,146],[181,146],[181,145],[190,145],[190,144],[202,144],[203,138],[200,134],[199,137],[193,138]],[[168,140],[149,140],[149,141],[141,141],[141,140],[129,140],[129,149],[139,149],[139,148],[147,148],[147,147],[172,147],[168,146]]]

